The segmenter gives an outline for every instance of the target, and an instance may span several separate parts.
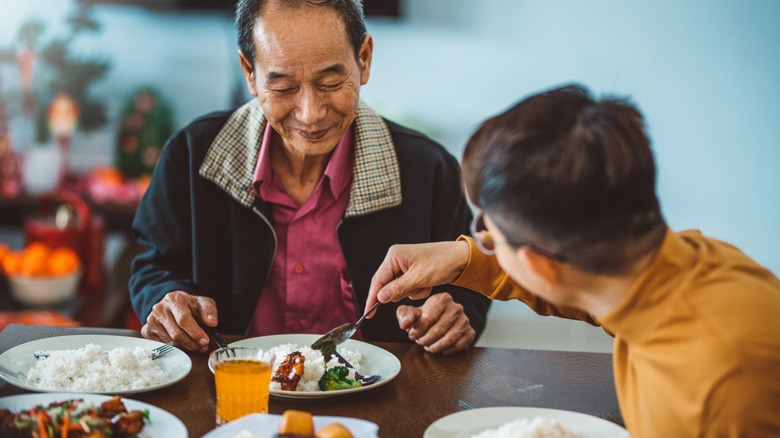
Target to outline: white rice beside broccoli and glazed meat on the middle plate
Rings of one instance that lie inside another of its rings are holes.
[[[275,357],[273,373],[276,373],[276,369],[279,368],[279,365],[281,365],[282,362],[284,362],[284,358],[293,351],[300,351],[301,354],[303,354],[303,357],[306,358],[306,360],[303,362],[303,376],[301,376],[301,380],[298,382],[298,386],[295,387],[296,391],[321,391],[319,387],[319,381],[322,375],[325,374],[325,370],[336,366],[343,366],[343,364],[335,358],[328,361],[328,363],[325,363],[325,358],[322,356],[322,352],[320,350],[314,350],[311,347],[307,347],[305,345],[298,346],[297,344],[281,344],[277,345],[276,347],[269,348],[269,351],[271,351]],[[350,365],[355,367],[354,370],[350,369],[349,375],[347,376],[350,379],[354,379],[355,371],[361,371],[363,354],[357,351],[347,350],[344,347],[339,347],[336,349],[336,351],[338,351],[339,354],[344,357],[344,359],[346,359]],[[282,384],[271,381],[271,389],[281,390]]]

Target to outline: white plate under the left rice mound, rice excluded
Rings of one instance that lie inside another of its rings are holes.
[[[46,388],[32,386],[27,382],[27,372],[33,366],[35,366],[35,362],[37,360],[35,356],[33,356],[33,352],[37,350],[75,350],[77,348],[84,347],[87,344],[100,345],[104,350],[135,347],[143,347],[151,350],[152,348],[163,345],[161,342],[152,341],[149,339],[110,335],[72,335],[38,339],[22,345],[17,345],[5,353],[0,354],[0,377],[2,377],[3,380],[8,383],[20,388],[24,388],[28,391],[68,392],[62,391],[60,389],[47,390]],[[155,359],[154,363],[162,368],[162,370],[165,371],[165,374],[168,375],[168,379],[158,385],[125,391],[80,392],[125,395],[152,391],[173,385],[174,383],[186,377],[192,369],[192,361],[190,360],[190,357],[178,348],[174,348],[172,351],[168,352],[161,358]]]

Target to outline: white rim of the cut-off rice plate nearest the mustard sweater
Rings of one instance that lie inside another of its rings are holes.
[[[595,415],[585,414],[583,412],[571,411],[566,409],[557,409],[557,408],[542,408],[542,407],[534,407],[534,406],[491,406],[491,407],[484,407],[484,408],[467,409],[467,410],[453,412],[451,414],[445,415],[444,417],[441,417],[436,421],[434,421],[433,423],[431,423],[430,425],[428,425],[428,427],[425,429],[425,432],[423,432],[423,438],[436,438],[436,436],[434,436],[433,433],[441,432],[441,431],[437,431],[436,428],[437,427],[441,428],[443,423],[451,422],[455,418],[482,417],[485,413],[489,411],[493,412],[496,415],[497,414],[506,415],[507,419],[502,423],[498,423],[495,425],[488,425],[486,426],[487,428],[496,428],[513,419],[529,418],[534,416],[544,416],[546,418],[556,420],[556,415],[560,416],[561,414],[564,414],[566,416],[581,417],[588,421],[597,421],[598,422],[597,424],[603,423],[605,427],[609,426],[611,428],[614,428],[614,432],[616,434],[615,437],[619,437],[619,438],[629,437],[628,431],[624,427],[621,427],[618,424],[612,423],[611,421],[605,420]],[[578,432],[578,431],[574,431],[574,432]]]

